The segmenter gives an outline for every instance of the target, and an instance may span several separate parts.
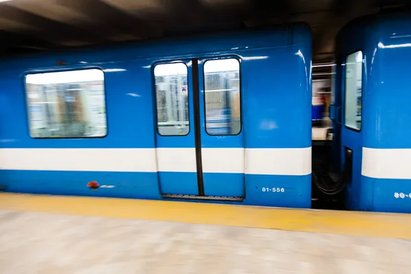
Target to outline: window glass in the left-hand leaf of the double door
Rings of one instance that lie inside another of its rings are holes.
[[[158,134],[187,135],[190,131],[187,66],[183,63],[158,64],[154,77]]]

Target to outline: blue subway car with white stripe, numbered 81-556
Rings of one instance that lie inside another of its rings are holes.
[[[310,208],[311,43],[297,23],[1,60],[0,186]]]

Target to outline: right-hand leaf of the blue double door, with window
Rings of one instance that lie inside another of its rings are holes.
[[[238,59],[199,62],[199,152],[204,195],[245,197],[240,83]]]

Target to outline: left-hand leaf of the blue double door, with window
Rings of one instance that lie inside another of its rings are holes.
[[[156,64],[153,72],[160,192],[199,195],[191,62]]]

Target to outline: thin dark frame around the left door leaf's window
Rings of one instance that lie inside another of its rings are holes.
[[[155,67],[156,66],[158,66],[158,65],[161,65],[161,64],[178,64],[178,63],[181,63],[181,64],[184,64],[184,66],[186,66],[186,71],[187,71],[187,102],[188,102],[188,132],[187,132],[187,134],[184,134],[184,135],[182,135],[182,134],[177,134],[177,135],[163,135],[163,134],[160,134],[160,131],[158,130],[159,128],[158,128],[158,105],[157,105],[157,88],[155,88],[155,73],[154,73],[154,70],[155,70]],[[191,121],[190,121],[190,112],[191,112],[191,110],[190,110],[190,75],[189,75],[189,73],[188,73],[188,65],[187,65],[187,63],[186,62],[184,62],[184,60],[167,60],[167,61],[164,61],[164,62],[155,62],[152,66],[152,69],[151,69],[151,78],[152,78],[152,83],[153,83],[153,94],[154,94],[154,96],[153,96],[153,99],[154,99],[154,105],[155,105],[155,108],[154,108],[154,116],[155,116],[155,132],[157,132],[157,134],[159,135],[159,136],[164,136],[164,137],[185,137],[185,136],[188,136],[188,134],[190,134],[190,132],[191,132]]]

